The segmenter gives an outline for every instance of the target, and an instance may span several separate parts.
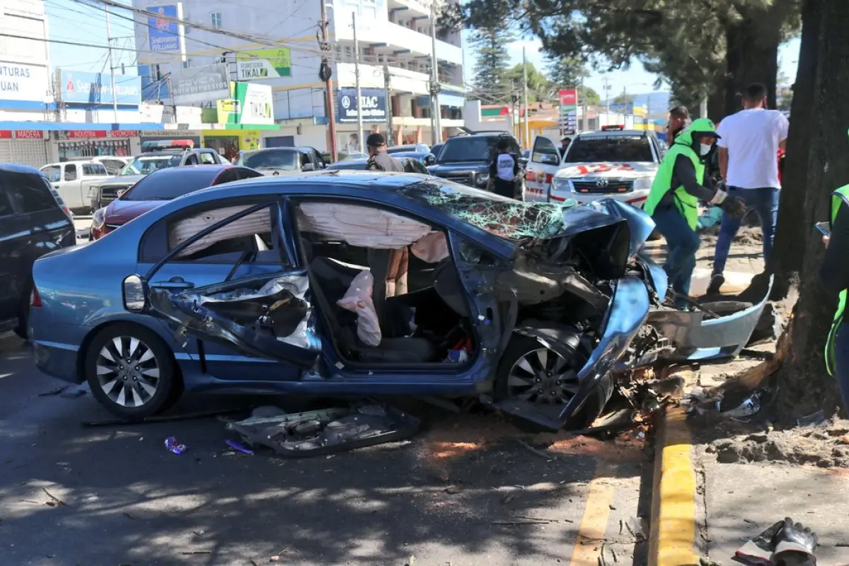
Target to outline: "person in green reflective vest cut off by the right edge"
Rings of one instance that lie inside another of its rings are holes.
[[[825,366],[841,386],[843,407],[849,411],[849,328],[843,320],[846,310],[846,289],[849,289],[849,185],[831,193],[831,234],[823,238],[826,245],[819,279],[829,292],[837,294],[837,312],[831,322],[829,339],[825,343]]]

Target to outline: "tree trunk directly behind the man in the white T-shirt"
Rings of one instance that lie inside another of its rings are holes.
[[[753,82],[767,87],[767,102],[775,108],[779,72],[779,25],[762,9],[741,10],[744,18],[725,30],[725,115],[740,109],[739,95]]]

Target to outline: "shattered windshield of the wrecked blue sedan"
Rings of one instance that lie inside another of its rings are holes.
[[[564,207],[576,205],[522,202],[456,182],[427,180],[399,190],[411,199],[436,206],[499,238],[554,238],[563,231]]]

